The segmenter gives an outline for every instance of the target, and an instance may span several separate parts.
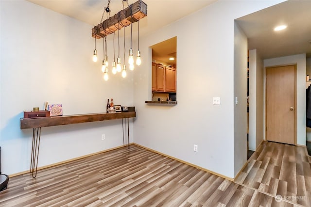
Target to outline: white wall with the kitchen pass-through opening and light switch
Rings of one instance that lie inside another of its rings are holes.
[[[134,77],[135,143],[233,178],[238,168],[234,164],[241,164],[234,161],[246,156],[234,154],[234,19],[278,2],[220,0],[140,38],[141,52],[148,60]],[[152,61],[148,47],[174,36],[178,104],[147,105]],[[242,69],[246,72],[246,67]],[[212,105],[213,97],[221,97],[220,106]],[[240,103],[243,99],[246,114],[246,94]],[[246,142],[246,132],[243,139]],[[193,144],[198,144],[197,153]]]

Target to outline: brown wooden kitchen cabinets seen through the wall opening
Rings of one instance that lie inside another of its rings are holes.
[[[176,92],[176,68],[152,63],[152,91]]]

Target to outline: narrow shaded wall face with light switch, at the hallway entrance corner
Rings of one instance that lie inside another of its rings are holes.
[[[247,161],[247,37],[234,22],[234,176]]]

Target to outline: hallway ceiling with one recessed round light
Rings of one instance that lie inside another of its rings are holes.
[[[248,48],[262,59],[307,53],[311,57],[311,0],[289,0],[237,19]],[[285,24],[287,29],[273,29]]]

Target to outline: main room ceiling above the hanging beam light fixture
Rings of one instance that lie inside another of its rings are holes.
[[[55,12],[71,16],[92,26],[98,25],[107,7],[108,0],[28,0]],[[129,4],[137,0],[128,0]],[[143,0],[147,4],[147,17],[140,20],[139,34],[156,31],[172,22],[187,16],[216,0]],[[111,0],[111,15],[122,10],[122,0]],[[124,3],[124,7],[128,7]],[[106,16],[104,17],[104,20]],[[133,25],[134,27],[134,25]],[[91,31],[90,27],[90,31]],[[133,28],[134,29],[134,28]],[[123,33],[123,32],[122,32]],[[90,32],[91,34],[91,32]],[[134,37],[135,38],[135,37]]]

